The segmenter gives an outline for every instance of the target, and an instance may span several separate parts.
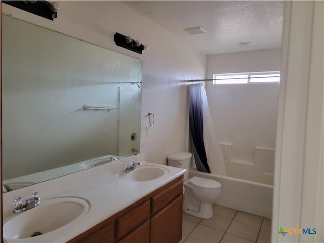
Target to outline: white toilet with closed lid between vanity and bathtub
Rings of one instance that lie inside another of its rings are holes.
[[[194,176],[188,179],[190,160],[192,154],[188,152],[177,152],[170,154],[168,165],[184,168],[184,197],[183,212],[203,219],[213,217],[213,203],[221,193],[222,185],[211,179]]]

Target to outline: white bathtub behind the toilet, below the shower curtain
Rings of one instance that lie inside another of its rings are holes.
[[[272,218],[273,186],[197,171],[190,168],[189,178],[199,176],[222,184],[217,204],[247,213]]]

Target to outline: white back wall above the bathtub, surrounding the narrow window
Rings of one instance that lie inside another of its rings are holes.
[[[207,78],[212,78],[213,73],[279,68],[280,49],[207,57]],[[217,86],[207,82],[206,93],[227,175],[272,185],[279,84]]]

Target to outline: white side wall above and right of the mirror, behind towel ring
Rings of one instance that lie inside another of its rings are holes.
[[[204,78],[206,56],[173,34],[115,1],[59,1],[58,18],[50,21],[2,3],[2,13],[143,60],[141,152],[148,161],[166,164],[170,153],[187,150],[187,79]],[[118,47],[115,32],[148,44],[142,55]],[[145,136],[148,112],[155,115]]]

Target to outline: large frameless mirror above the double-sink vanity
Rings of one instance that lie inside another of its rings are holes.
[[[139,153],[141,60],[1,24],[3,192]]]

